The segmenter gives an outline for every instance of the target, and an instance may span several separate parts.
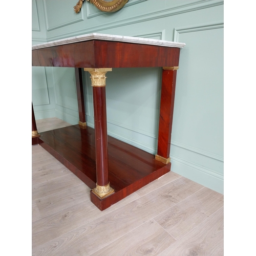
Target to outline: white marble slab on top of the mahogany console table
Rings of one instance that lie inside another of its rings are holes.
[[[155,45],[155,46],[165,46],[165,47],[178,47],[183,48],[185,44],[183,42],[172,42],[151,38],[141,38],[133,36],[121,36],[121,35],[108,35],[108,34],[98,34],[91,33],[86,35],[73,36],[65,39],[59,39],[51,42],[45,42],[44,44],[32,46],[32,50],[46,48],[51,46],[67,45],[73,42],[89,41],[89,40],[108,40],[108,41],[118,41],[118,42],[131,42],[135,44],[142,45]]]

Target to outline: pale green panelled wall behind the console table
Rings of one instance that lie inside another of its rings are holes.
[[[130,0],[115,13],[84,1],[33,0],[32,44],[92,32],[185,42],[177,73],[170,157],[172,170],[223,193],[223,1]],[[107,73],[108,131],[156,154],[160,69]],[[83,74],[86,118],[93,126],[92,88]],[[32,71],[36,119],[78,123],[72,68]]]

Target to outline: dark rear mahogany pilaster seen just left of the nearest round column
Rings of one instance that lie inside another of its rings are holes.
[[[86,129],[86,111],[84,108],[84,96],[83,96],[83,83],[82,83],[82,69],[75,68],[76,76],[76,91],[78,100],[78,112],[79,112],[79,126],[82,129]]]

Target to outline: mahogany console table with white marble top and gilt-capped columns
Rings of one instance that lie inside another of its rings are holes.
[[[91,201],[104,210],[170,171],[176,74],[180,48],[164,40],[87,34],[32,47],[32,66],[73,67],[79,124],[38,134],[32,104],[32,144],[40,144],[86,183]],[[112,68],[162,67],[157,155],[107,134],[105,86]],[[91,74],[94,103],[92,129],[86,124],[82,69]]]

